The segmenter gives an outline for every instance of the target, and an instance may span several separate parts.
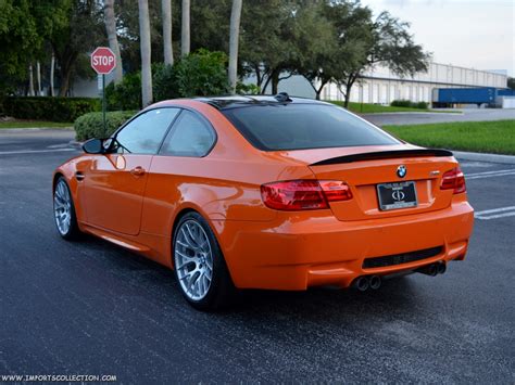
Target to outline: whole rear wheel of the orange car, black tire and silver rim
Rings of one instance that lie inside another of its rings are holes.
[[[200,214],[180,218],[172,246],[175,277],[191,306],[216,310],[233,303],[236,287],[213,230]]]

